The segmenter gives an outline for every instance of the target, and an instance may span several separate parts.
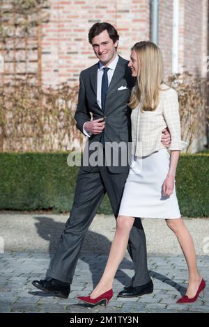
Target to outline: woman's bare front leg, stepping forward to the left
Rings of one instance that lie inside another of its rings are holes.
[[[100,282],[91,293],[91,298],[96,298],[100,296],[100,294],[112,288],[114,276],[116,275],[118,266],[125,255],[130,230],[134,224],[134,219],[134,217],[118,216],[116,220],[116,233],[111,244],[107,264]]]

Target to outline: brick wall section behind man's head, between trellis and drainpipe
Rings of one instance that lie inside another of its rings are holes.
[[[77,83],[79,72],[97,61],[88,44],[95,22],[113,24],[120,35],[118,54],[130,57],[130,47],[149,38],[149,1],[49,0],[50,21],[42,26],[42,82],[56,86]]]

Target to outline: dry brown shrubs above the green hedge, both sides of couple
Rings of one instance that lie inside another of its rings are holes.
[[[180,103],[182,138],[187,152],[201,148],[206,136],[206,81],[188,73],[169,78]],[[27,81],[0,88],[0,152],[50,152],[82,148],[84,137],[75,127],[78,86],[56,89]]]

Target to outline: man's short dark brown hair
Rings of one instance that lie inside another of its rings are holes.
[[[109,34],[109,38],[111,38],[111,40],[113,40],[113,42],[115,43],[117,40],[119,40],[119,35],[117,30],[114,28],[114,26],[112,26],[109,23],[95,23],[93,24],[93,26],[91,26],[91,29],[89,30],[88,33],[88,41],[89,43],[92,44],[92,39],[99,35],[100,33],[102,33],[103,31],[105,31],[107,29],[107,33]]]

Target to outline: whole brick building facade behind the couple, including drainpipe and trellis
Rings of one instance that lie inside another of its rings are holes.
[[[35,7],[40,2],[31,1]],[[34,10],[28,15],[12,3],[0,2],[3,82],[26,75],[44,86],[77,84],[81,70],[97,61],[88,43],[88,30],[95,22],[109,22],[118,29],[118,54],[127,59],[135,42],[156,42],[164,56],[165,79],[184,70],[206,76],[208,0],[42,0],[42,8],[35,9],[47,20],[38,26]]]

